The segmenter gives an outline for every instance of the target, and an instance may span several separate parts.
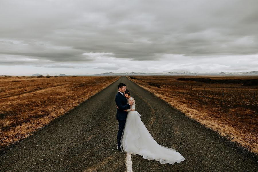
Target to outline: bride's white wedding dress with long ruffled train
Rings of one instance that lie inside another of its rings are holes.
[[[128,101],[132,99],[130,97]],[[135,108],[135,101],[131,109]],[[131,109],[127,110],[130,111]],[[175,162],[180,163],[185,158],[175,151],[175,149],[159,145],[150,135],[149,131],[142,123],[140,114],[137,111],[130,111],[127,114],[126,124],[121,138],[122,152],[132,155],[142,155],[144,159],[156,160],[161,164]]]

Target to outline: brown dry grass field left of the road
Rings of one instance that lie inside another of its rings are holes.
[[[0,150],[32,135],[117,79],[0,76]]]

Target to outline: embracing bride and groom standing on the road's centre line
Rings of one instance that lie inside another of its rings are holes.
[[[180,163],[185,158],[175,149],[159,145],[142,123],[135,111],[135,100],[130,96],[124,83],[118,85],[116,95],[116,120],[118,120],[117,149],[132,155],[142,155],[144,159],[156,160],[161,164]]]

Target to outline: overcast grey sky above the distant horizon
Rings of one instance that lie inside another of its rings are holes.
[[[257,0],[0,0],[0,75],[258,71]]]

